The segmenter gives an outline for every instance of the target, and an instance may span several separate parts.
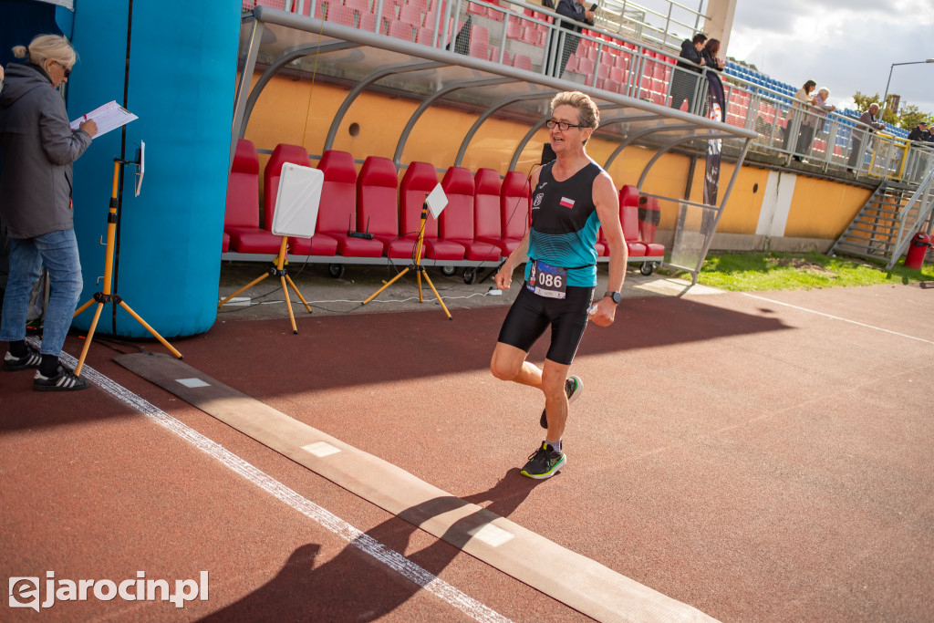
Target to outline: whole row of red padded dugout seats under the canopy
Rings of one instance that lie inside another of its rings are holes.
[[[252,142],[237,142],[227,189],[222,252],[278,252],[281,238],[268,227],[273,222],[284,163],[311,165],[304,148],[276,146],[263,172],[263,228],[259,157]],[[345,258],[414,257],[422,205],[438,184],[434,165],[410,163],[400,183],[395,164],[388,158],[370,156],[358,175],[353,156],[331,149],[324,152],[318,169],[324,174],[324,183],[315,235],[310,239],[290,238],[290,253]],[[448,203],[440,219],[428,215],[423,258],[496,262],[517,248],[529,222],[531,191],[526,176],[510,171],[501,180],[493,169],[478,169],[474,176],[468,169],[452,166],[441,185]],[[665,249],[654,242],[658,200],[640,197],[632,186],[624,186],[619,198],[631,259],[660,261]],[[361,238],[350,232],[373,237]],[[604,257],[608,252],[602,232],[597,250]]]

